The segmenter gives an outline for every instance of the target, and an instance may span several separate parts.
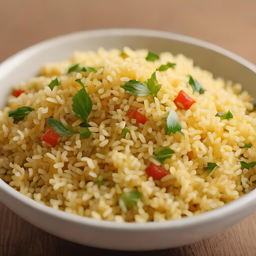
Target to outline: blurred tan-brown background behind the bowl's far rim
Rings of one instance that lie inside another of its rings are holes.
[[[1,0],[0,14],[0,61],[74,31],[138,27],[207,40],[256,63],[255,0]]]

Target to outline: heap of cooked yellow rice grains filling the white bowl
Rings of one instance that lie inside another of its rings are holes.
[[[209,211],[237,199],[255,188],[255,168],[241,169],[240,161],[256,159],[256,119],[251,97],[241,85],[222,79],[193,65],[182,54],[165,52],[155,61],[146,61],[147,50],[124,48],[98,52],[75,52],[69,61],[47,63],[42,75],[17,88],[25,90],[11,96],[0,110],[0,178],[20,193],[55,209],[98,220],[147,222],[179,219]],[[146,81],[167,62],[174,68],[157,72],[162,88],[153,98],[130,95],[120,88],[130,79]],[[94,72],[67,74],[70,66],[81,63]],[[188,74],[200,81],[204,94],[193,94]],[[47,85],[58,77],[61,85]],[[92,99],[89,139],[79,133],[61,137],[55,148],[43,147],[41,137],[53,117],[66,128],[82,123],[72,110],[72,98],[81,89],[81,79]],[[189,110],[178,110],[173,100],[184,90],[196,103]],[[23,121],[8,117],[20,106],[34,108]],[[138,108],[146,124],[136,124],[127,115]],[[175,110],[182,132],[166,135],[162,117]],[[233,118],[220,120],[219,111],[230,110]],[[121,130],[129,128],[125,138]],[[243,148],[252,142],[251,148]],[[170,146],[175,151],[166,159],[168,175],[162,180],[148,177],[145,169],[153,162],[153,150]],[[193,152],[189,161],[187,153]],[[207,162],[218,168],[209,176]],[[103,177],[103,182],[98,177]],[[141,199],[128,211],[119,206],[124,193],[138,190]]]

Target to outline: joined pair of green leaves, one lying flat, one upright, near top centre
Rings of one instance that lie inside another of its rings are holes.
[[[130,80],[121,86],[126,92],[137,96],[147,96],[152,94],[156,97],[157,92],[161,88],[161,84],[157,82],[156,72],[148,79],[146,83],[142,83],[138,80]]]

